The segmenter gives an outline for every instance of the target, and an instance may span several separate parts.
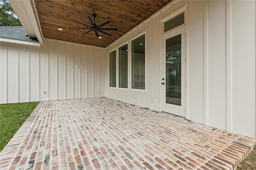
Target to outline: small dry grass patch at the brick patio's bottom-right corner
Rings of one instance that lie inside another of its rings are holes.
[[[240,167],[237,170],[256,170],[256,146],[254,146],[252,152],[240,163]]]

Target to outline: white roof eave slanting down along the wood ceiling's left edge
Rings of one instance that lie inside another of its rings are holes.
[[[18,16],[28,36],[37,39],[43,45],[43,34],[39,24],[38,15],[35,10],[34,1],[30,0],[9,0],[13,10]]]

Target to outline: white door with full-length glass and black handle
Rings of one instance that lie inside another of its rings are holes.
[[[185,28],[162,37],[162,111],[185,117]]]

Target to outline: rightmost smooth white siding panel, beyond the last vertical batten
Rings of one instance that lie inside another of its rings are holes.
[[[231,1],[230,11],[229,126],[256,138],[256,1]]]

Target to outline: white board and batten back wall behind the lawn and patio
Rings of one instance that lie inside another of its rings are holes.
[[[42,48],[1,43],[0,103],[103,97],[106,57],[101,47],[51,39]]]

